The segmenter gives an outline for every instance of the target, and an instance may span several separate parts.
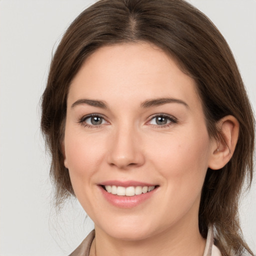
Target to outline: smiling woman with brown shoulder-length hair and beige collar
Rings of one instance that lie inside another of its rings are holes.
[[[95,224],[71,255],[242,255],[254,119],[230,49],[181,0],[101,0],[52,59],[41,127],[56,201]],[[213,239],[214,229],[214,239]]]

